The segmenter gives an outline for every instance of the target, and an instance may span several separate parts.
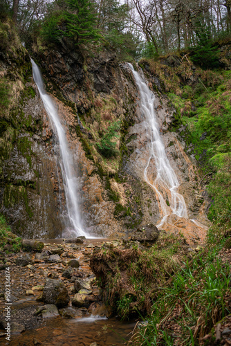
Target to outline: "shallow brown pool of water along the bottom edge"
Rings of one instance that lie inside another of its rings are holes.
[[[134,326],[134,322],[120,322],[115,318],[55,318],[39,329],[13,335],[10,345],[89,346],[97,343],[98,346],[118,346],[129,340]]]

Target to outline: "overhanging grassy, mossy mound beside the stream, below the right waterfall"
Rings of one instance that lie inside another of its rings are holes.
[[[122,320],[150,313],[158,286],[164,285],[186,259],[181,235],[162,235],[154,246],[140,249],[131,242],[124,248],[96,249],[91,267],[104,302]]]

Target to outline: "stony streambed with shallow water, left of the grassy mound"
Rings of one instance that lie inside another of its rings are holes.
[[[39,251],[6,255],[0,266],[0,345],[124,345],[134,323],[110,318],[89,266],[93,248],[103,243],[119,244],[50,239]],[[10,342],[5,334],[6,268],[11,277]]]

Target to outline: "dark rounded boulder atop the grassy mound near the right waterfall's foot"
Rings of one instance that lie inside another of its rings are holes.
[[[160,235],[160,231],[153,224],[142,226],[142,228],[138,228],[134,233],[131,240],[138,241],[141,244],[154,244]]]

